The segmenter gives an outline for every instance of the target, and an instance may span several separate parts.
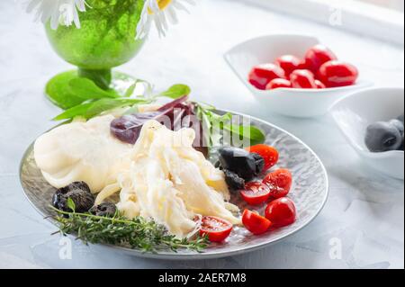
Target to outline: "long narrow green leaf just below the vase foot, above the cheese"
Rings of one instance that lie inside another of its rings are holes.
[[[102,112],[111,111],[116,108],[131,106],[138,103],[149,103],[145,99],[101,99],[91,103],[82,103],[65,112],[59,114],[54,121],[63,121],[73,119],[78,116],[91,119]]]

